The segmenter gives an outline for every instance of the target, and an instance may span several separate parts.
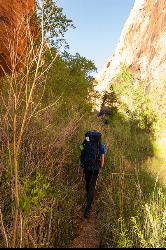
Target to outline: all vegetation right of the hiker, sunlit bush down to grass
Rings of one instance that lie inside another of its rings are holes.
[[[108,151],[98,193],[103,247],[166,246],[166,158],[156,147],[165,127],[165,86],[146,94],[144,88],[146,83],[134,86],[123,65],[107,93],[111,115],[103,134]]]

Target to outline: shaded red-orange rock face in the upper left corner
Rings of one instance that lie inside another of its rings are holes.
[[[35,7],[35,0],[0,0],[0,76],[13,67],[12,53],[23,55],[26,47],[27,16]]]

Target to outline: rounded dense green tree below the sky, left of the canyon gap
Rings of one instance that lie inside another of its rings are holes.
[[[47,60],[50,58],[47,57]],[[72,56],[65,52],[62,56],[58,56],[49,72],[45,101],[55,100],[61,96],[61,107],[65,115],[65,109],[91,111],[92,104],[88,96],[92,91],[94,78],[91,73],[94,71],[96,71],[94,63],[78,53]]]

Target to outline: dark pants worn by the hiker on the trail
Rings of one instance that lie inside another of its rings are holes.
[[[95,192],[95,186],[97,177],[99,175],[99,171],[89,171],[84,170],[85,174],[85,182],[86,182],[86,198],[87,198],[87,209],[91,209],[91,205],[93,202],[94,192]]]

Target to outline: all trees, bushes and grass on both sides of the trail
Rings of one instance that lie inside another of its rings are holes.
[[[11,46],[12,74],[0,85],[0,247],[70,245],[84,203],[78,145],[90,129],[102,132],[107,149],[97,186],[102,246],[164,247],[165,191],[149,168],[161,165],[154,140],[164,124],[165,86],[161,94],[145,94],[145,84],[134,85],[122,65],[109,93],[107,125],[97,119],[89,96],[95,65],[59,53],[73,25],[52,0],[46,3],[35,17],[43,25],[36,40],[29,37],[25,68],[16,72]]]

